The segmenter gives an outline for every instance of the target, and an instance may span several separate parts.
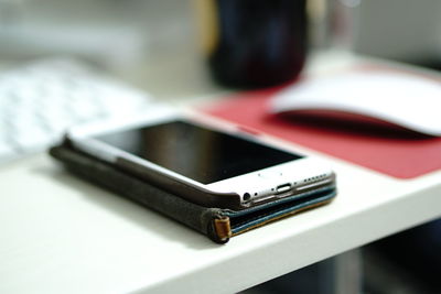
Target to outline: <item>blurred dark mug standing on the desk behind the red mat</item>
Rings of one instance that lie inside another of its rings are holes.
[[[213,77],[230,87],[293,80],[306,55],[306,0],[200,0]]]

